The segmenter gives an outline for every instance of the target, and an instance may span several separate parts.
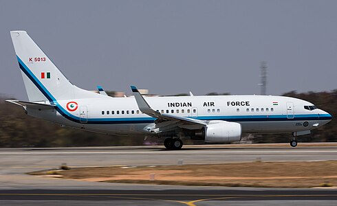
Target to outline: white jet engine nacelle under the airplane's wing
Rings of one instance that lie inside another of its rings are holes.
[[[241,124],[226,121],[210,121],[205,128],[206,142],[240,141],[242,134]]]

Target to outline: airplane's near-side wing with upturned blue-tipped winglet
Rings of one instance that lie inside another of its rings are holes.
[[[138,108],[142,113],[149,115],[151,117],[155,117],[157,120],[155,121],[156,124],[161,123],[161,122],[168,122],[171,121],[172,124],[188,124],[188,125],[196,125],[196,126],[206,126],[207,123],[203,120],[199,119],[193,119],[189,117],[179,117],[175,115],[167,115],[167,114],[162,114],[157,111],[154,111],[151,106],[146,102],[146,100],[143,98],[143,96],[140,94],[138,89],[135,86],[131,86],[131,89],[133,91],[133,95],[135,95],[135,101],[138,104]],[[167,126],[167,124],[166,124]]]

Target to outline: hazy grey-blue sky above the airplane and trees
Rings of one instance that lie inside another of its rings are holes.
[[[169,95],[337,89],[337,1],[0,0],[0,93],[27,99],[10,39],[26,30],[83,89]]]

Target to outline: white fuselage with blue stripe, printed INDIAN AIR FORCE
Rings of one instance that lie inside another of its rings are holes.
[[[238,122],[243,133],[292,133],[312,130],[331,120],[331,115],[312,103],[296,98],[263,95],[147,97],[160,113],[200,120]],[[67,109],[76,102],[75,111]],[[56,103],[56,102],[54,102]],[[53,111],[28,109],[28,115],[85,130],[107,134],[144,134],[155,118],[139,111],[135,98],[61,100]]]

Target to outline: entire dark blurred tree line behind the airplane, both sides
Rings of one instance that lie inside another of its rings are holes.
[[[111,92],[113,93],[113,92]],[[216,95],[209,93],[208,95]],[[228,95],[229,93],[224,93]],[[221,94],[221,95],[224,95]],[[314,103],[318,108],[337,116],[337,89],[331,92],[284,93],[288,97],[300,98]],[[162,139],[155,137],[144,139],[142,136],[113,136],[91,133],[75,128],[61,127],[25,115],[23,108],[5,102],[6,97],[0,97],[0,147],[70,147],[70,146],[129,146],[142,144],[158,144]],[[291,135],[254,135],[254,143],[287,142]],[[300,141],[337,141],[337,121],[312,130],[311,135],[300,137]],[[192,144],[193,141],[186,141]]]

